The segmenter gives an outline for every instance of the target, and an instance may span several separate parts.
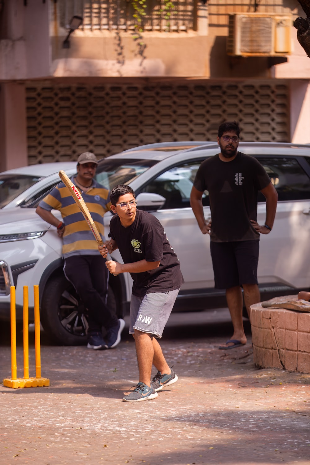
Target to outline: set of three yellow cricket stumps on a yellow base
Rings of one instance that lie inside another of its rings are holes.
[[[29,329],[28,329],[28,286],[24,286],[23,295],[23,330],[24,330],[24,377],[17,378],[16,362],[16,300],[15,286],[11,286],[11,378],[3,380],[6,387],[42,387],[49,386],[50,380],[41,378],[40,349],[40,303],[39,286],[33,286],[34,292],[34,344],[35,344],[35,378],[29,378]]]

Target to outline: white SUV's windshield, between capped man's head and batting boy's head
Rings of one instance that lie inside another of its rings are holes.
[[[133,179],[140,176],[151,166],[158,163],[157,160],[135,160],[135,159],[105,159],[100,162],[96,180],[107,189],[118,184],[130,184]]]

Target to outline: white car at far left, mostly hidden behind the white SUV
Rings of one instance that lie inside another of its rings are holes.
[[[41,163],[0,173],[0,208],[22,206],[47,193],[59,184],[59,170],[76,173],[77,163]]]

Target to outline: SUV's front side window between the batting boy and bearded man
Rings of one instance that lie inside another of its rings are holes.
[[[190,207],[191,188],[197,170],[203,160],[191,160],[161,173],[152,179],[140,192],[149,192],[165,197],[161,209]],[[204,191],[203,206],[209,205],[209,193]]]

